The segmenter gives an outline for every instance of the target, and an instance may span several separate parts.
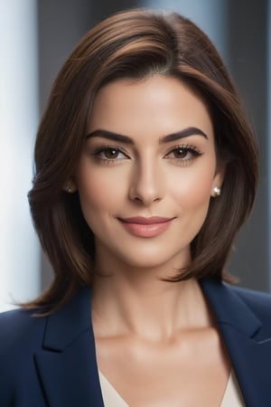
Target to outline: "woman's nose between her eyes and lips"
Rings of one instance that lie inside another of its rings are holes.
[[[149,161],[137,163],[133,170],[129,199],[145,206],[160,201],[164,195],[164,188],[159,163]]]

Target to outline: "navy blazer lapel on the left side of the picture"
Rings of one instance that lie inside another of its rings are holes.
[[[50,407],[104,407],[90,318],[89,289],[48,317],[35,362]]]

